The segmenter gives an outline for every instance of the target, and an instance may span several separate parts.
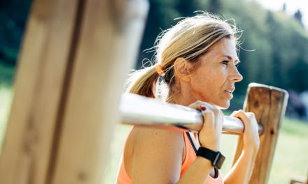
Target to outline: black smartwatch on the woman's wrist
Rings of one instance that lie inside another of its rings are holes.
[[[204,148],[202,146],[200,146],[196,155],[210,160],[213,167],[216,169],[221,169],[221,166],[225,161],[225,156],[220,151],[211,151],[210,149]]]

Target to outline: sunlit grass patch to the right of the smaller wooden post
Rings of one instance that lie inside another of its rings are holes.
[[[269,183],[289,183],[308,174],[308,123],[284,118]]]

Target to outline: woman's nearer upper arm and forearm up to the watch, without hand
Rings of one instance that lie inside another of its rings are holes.
[[[132,183],[204,184],[212,169],[211,162],[204,158],[197,158],[180,179],[185,156],[183,132],[146,127],[134,131],[138,137],[132,155]]]

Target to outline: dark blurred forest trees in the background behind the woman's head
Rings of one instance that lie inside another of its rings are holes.
[[[242,30],[239,71],[244,76],[237,84],[237,93],[245,93],[249,82],[259,82],[283,89],[308,89],[308,31],[300,23],[302,13],[293,17],[285,11],[265,10],[255,1],[247,0],[151,0],[151,9],[141,44],[137,68],[143,59],[151,59],[156,36],[176,24],[176,17],[194,15],[208,10],[225,18],[233,18]],[[30,1],[0,3],[0,64],[15,66],[23,27]],[[232,20],[230,20],[232,22]],[[0,67],[1,70],[1,67]],[[0,71],[1,78],[1,71]]]

